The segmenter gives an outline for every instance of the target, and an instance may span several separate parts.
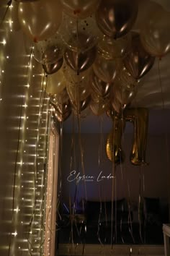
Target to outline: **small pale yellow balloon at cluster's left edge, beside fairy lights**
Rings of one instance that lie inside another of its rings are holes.
[[[50,74],[50,76],[48,76],[48,86],[46,91],[52,95],[58,95],[64,88],[66,88],[66,84],[67,82],[60,69],[55,74]]]

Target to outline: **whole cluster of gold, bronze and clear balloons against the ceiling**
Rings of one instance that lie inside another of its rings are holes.
[[[89,106],[95,115],[124,110],[155,58],[170,51],[170,13],[138,0],[16,0],[34,57],[49,74],[47,92],[58,121]]]

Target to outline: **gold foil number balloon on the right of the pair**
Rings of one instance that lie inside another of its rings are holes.
[[[146,165],[146,145],[148,135],[148,109],[127,108],[124,112],[126,121],[132,121],[135,129],[130,161],[135,166]]]

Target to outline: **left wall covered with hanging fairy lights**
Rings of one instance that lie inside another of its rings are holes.
[[[1,17],[5,10],[2,0]],[[0,27],[0,255],[40,255],[48,98],[42,67],[8,15]]]

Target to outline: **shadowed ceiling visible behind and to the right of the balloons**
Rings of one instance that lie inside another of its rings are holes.
[[[155,0],[170,12],[169,0]],[[147,0],[139,1],[139,17],[135,23],[135,30],[138,30],[138,23],[145,17],[145,3]],[[140,80],[138,85],[138,93],[131,103],[131,107],[149,108],[149,127],[148,132],[152,134],[160,134],[169,132],[170,130],[170,54],[164,56],[163,59],[156,59],[152,69],[145,77]],[[102,124],[102,132],[107,133],[112,128],[112,120],[106,114],[102,116],[94,116],[91,111],[84,112],[86,118],[81,118],[81,132],[95,133],[100,132]],[[63,124],[63,131],[72,132],[72,116],[70,116]],[[102,123],[101,123],[102,121]],[[131,124],[126,124],[125,132],[133,132]]]

